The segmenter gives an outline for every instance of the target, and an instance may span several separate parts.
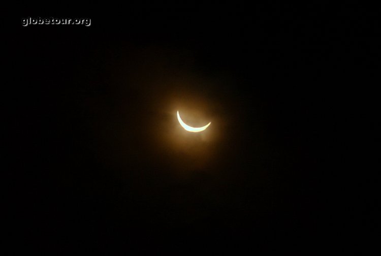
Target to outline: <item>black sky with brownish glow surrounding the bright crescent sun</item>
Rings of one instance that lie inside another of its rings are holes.
[[[376,12],[84,10],[25,9],[7,21],[19,248],[311,255],[356,246],[373,201],[358,196],[342,149],[356,142],[347,127],[359,125],[361,88],[379,68]],[[91,26],[23,27],[29,16]],[[212,124],[186,133],[177,110]]]

